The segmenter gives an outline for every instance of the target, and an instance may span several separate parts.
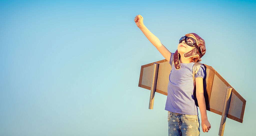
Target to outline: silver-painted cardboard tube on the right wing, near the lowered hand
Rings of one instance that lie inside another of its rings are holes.
[[[231,100],[232,89],[233,88],[230,88],[230,87],[227,88],[224,106],[223,106],[223,110],[222,110],[221,121],[220,121],[220,129],[219,129],[220,136],[223,136],[223,133],[224,133],[225,123],[226,123],[226,119],[228,116],[228,110],[229,110],[229,105],[230,105],[230,100]]]

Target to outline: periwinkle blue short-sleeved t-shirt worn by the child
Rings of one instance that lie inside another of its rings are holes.
[[[169,63],[172,65],[173,53]],[[193,65],[195,63],[180,63],[180,69],[172,67],[168,83],[168,95],[165,110],[186,115],[198,115],[194,101]],[[195,78],[205,76],[205,68],[201,65]]]

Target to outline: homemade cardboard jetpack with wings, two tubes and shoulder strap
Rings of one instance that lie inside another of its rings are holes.
[[[194,76],[200,65],[201,63],[194,64]],[[219,135],[223,136],[227,117],[243,122],[246,100],[214,68],[205,64],[203,66],[206,69],[206,76],[203,80],[206,109],[222,115]],[[141,66],[138,86],[151,90],[149,109],[153,109],[155,92],[168,94],[167,87],[171,69],[166,59]],[[195,102],[197,102],[196,99]]]

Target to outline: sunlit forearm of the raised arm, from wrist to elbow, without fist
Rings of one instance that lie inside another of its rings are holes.
[[[141,31],[144,33],[144,35],[147,37],[147,39],[156,47],[161,47],[162,43],[160,42],[160,40],[153,34],[151,33],[147,27],[143,24],[141,26],[139,26],[139,28],[141,29]]]

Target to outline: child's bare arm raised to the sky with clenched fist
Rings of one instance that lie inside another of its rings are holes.
[[[160,42],[160,40],[151,33],[147,27],[143,24],[143,17],[141,15],[137,15],[134,19],[138,28],[144,33],[147,39],[157,48],[157,50],[164,56],[165,59],[170,61],[171,53],[170,51]]]

